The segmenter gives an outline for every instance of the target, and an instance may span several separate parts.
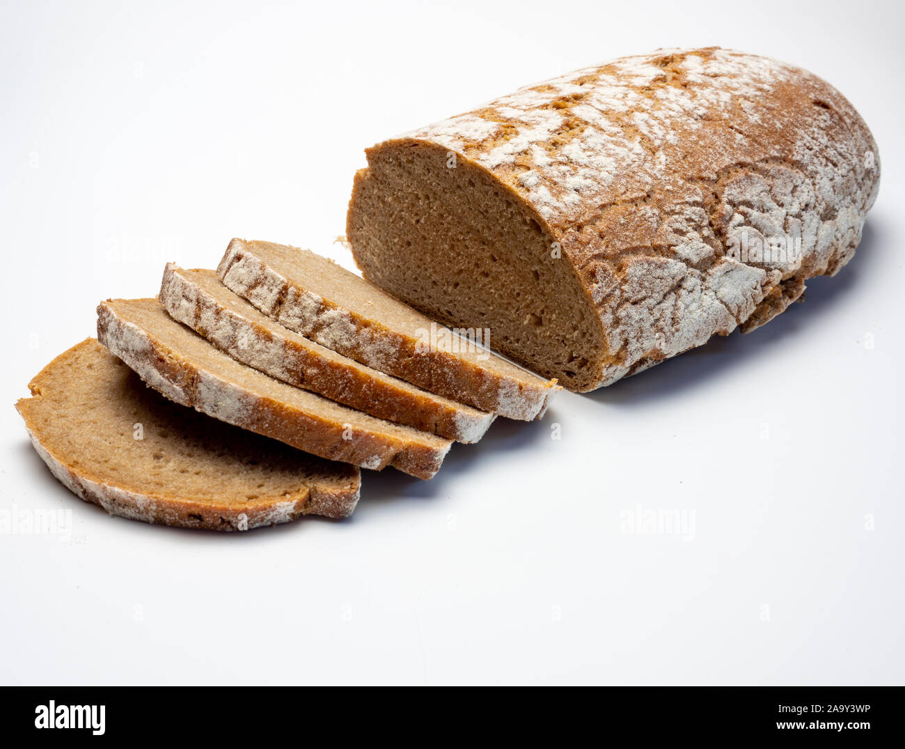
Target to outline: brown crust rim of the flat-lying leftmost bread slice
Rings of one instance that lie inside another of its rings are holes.
[[[16,410],[25,422],[25,428],[38,456],[50,468],[52,475],[73,494],[86,502],[98,504],[108,513],[138,520],[183,528],[211,531],[245,531],[277,523],[288,523],[302,514],[319,514],[330,518],[344,518],[352,514],[360,491],[360,474],[350,466],[338,466],[337,479],[348,474],[348,481],[334,480],[335,485],[304,487],[289,497],[252,500],[245,503],[212,503],[193,501],[190,497],[173,497],[147,492],[136,492],[115,485],[100,475],[94,475],[84,467],[72,464],[71,456],[62,455],[43,436],[43,419],[35,415],[37,399],[45,395],[45,375],[62,360],[80,350],[102,351],[93,338],[86,339],[72,349],[64,351],[50,362],[30,383],[32,397],[20,399]],[[98,382],[98,388],[104,383]],[[175,427],[176,428],[176,427]]]

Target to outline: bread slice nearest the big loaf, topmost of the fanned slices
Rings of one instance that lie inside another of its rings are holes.
[[[233,239],[217,273],[233,292],[291,331],[419,388],[509,418],[542,416],[547,380],[415,312],[325,257]],[[492,331],[490,331],[492,333]]]

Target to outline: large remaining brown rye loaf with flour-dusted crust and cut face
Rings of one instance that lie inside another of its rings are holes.
[[[365,277],[568,389],[752,330],[853,256],[870,130],[828,83],[719,48],[626,57],[367,149]]]

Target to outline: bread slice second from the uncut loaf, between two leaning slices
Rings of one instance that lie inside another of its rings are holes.
[[[160,303],[234,360],[371,416],[459,442],[477,442],[493,415],[372,370],[274,322],[214,271],[167,264]]]

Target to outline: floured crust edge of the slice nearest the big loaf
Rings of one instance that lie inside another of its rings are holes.
[[[542,417],[559,389],[556,380],[540,378],[510,362],[505,362],[511,370],[505,374],[449,351],[421,349],[417,338],[389,329],[379,314],[368,319],[349,312],[343,308],[342,299],[324,299],[306,288],[304,278],[283,275],[264,259],[267,245],[271,243],[233,239],[217,273],[234,293],[291,331],[419,388],[507,418]],[[281,251],[307,252],[275,246]],[[338,274],[348,274],[336,267]],[[364,283],[360,279],[357,282]],[[408,312],[423,317],[414,310]],[[425,326],[431,324],[427,318],[423,320]],[[487,355],[500,360],[490,352]]]

